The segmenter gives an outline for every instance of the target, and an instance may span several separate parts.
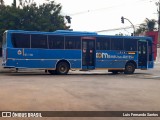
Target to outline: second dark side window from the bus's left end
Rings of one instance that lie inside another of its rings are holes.
[[[47,35],[31,35],[31,48],[47,48]]]

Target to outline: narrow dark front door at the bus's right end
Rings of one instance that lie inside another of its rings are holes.
[[[147,41],[138,41],[138,66],[142,69],[147,68],[148,53]]]

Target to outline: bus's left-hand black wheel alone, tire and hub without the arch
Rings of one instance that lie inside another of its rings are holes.
[[[66,75],[69,71],[69,65],[66,62],[60,62],[57,65],[56,72],[58,75]]]

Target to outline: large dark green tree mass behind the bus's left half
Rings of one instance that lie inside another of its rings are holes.
[[[0,4],[0,42],[8,29],[55,31],[69,28],[61,15],[62,6],[54,1],[39,6],[33,0],[19,0],[19,5],[13,0],[12,6],[3,5],[3,2]]]

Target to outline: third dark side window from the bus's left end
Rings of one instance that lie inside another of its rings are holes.
[[[49,35],[49,49],[64,49],[64,36]]]

